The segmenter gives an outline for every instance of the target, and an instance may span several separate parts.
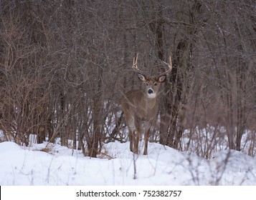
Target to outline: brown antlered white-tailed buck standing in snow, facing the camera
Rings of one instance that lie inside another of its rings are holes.
[[[125,123],[128,126],[130,150],[138,154],[138,141],[144,123],[144,151],[143,155],[148,154],[148,136],[153,121],[156,121],[158,114],[158,94],[159,87],[166,80],[166,74],[169,74],[172,68],[171,56],[169,58],[169,69],[162,74],[151,77],[146,76],[137,66],[138,54],[133,58],[133,69],[138,74],[138,79],[146,84],[146,89],[134,89],[125,94],[121,105],[125,115]],[[166,64],[166,63],[165,63]]]

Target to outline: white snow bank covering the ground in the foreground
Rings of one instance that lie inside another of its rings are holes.
[[[90,158],[59,144],[1,142],[0,185],[256,185],[256,159],[239,151],[219,151],[207,160],[149,143],[143,156],[132,154],[128,142],[113,142],[103,152]]]

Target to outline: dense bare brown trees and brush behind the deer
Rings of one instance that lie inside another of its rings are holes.
[[[138,53],[148,74],[173,63],[151,141],[208,158],[243,140],[255,156],[254,0],[1,0],[0,17],[2,141],[35,134],[94,157],[127,141],[120,99],[140,86]]]

